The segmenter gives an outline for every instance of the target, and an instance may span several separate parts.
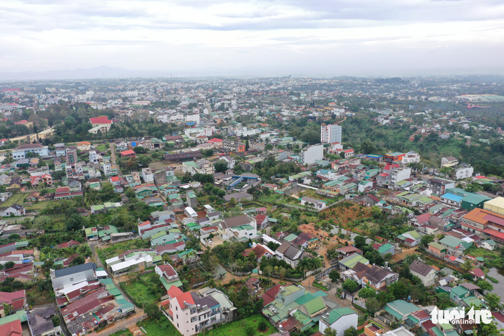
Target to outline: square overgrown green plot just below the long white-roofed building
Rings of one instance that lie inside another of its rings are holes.
[[[139,307],[143,304],[158,302],[166,294],[164,286],[159,281],[159,275],[148,273],[122,282],[121,288],[128,294]]]

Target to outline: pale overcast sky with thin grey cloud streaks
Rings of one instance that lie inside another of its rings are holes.
[[[8,0],[0,17],[0,72],[504,73],[502,0]]]

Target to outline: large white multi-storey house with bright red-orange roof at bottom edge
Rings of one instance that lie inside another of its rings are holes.
[[[168,297],[163,308],[168,309],[168,318],[182,336],[196,335],[213,324],[230,322],[236,310],[229,298],[214,288],[184,293],[171,286]]]

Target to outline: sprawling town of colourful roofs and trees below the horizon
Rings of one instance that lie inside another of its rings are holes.
[[[503,333],[504,77],[0,90],[0,336]]]

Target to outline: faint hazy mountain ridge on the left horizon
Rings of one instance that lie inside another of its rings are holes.
[[[91,69],[0,72],[0,81],[24,79],[99,79],[99,78],[131,78],[131,77],[170,77],[163,71],[126,70],[99,66]]]

